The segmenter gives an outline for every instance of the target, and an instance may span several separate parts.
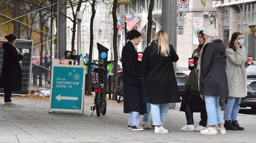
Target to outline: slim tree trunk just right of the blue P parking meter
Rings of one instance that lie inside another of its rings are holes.
[[[114,60],[118,60],[118,54],[117,54],[117,0],[114,0],[113,2],[113,8],[112,8],[112,16],[113,16],[113,26],[114,26],[114,34],[113,34],[113,50],[114,50]],[[117,87],[117,70],[118,70],[118,64],[117,62],[114,62],[114,75],[113,75],[113,89]],[[114,95],[116,94],[116,91],[113,90],[113,96],[112,99],[114,100]]]

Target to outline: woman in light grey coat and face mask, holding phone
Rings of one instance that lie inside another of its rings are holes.
[[[229,97],[224,113],[227,130],[244,130],[237,122],[239,104],[242,97],[247,96],[247,75],[246,75],[246,48],[244,47],[243,35],[234,32],[226,49],[227,54],[227,79],[229,85]]]

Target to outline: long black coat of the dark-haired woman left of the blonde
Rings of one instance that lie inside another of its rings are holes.
[[[143,87],[138,60],[138,52],[132,42],[127,42],[122,50],[124,113],[147,113],[146,103],[142,103]]]

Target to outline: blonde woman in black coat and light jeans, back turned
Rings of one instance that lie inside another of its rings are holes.
[[[172,45],[168,44],[167,32],[156,33],[142,57],[143,102],[151,103],[154,133],[168,133],[165,124],[169,103],[181,102],[173,68],[179,60]]]

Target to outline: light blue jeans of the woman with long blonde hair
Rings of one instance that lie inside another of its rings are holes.
[[[165,104],[151,104],[153,125],[164,125],[169,108],[169,103]]]

